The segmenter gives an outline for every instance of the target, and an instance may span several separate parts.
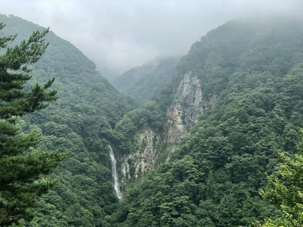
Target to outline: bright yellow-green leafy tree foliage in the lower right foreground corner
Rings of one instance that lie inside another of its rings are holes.
[[[303,139],[303,129],[299,128]],[[271,217],[265,220],[263,225],[260,222],[256,226],[303,226],[303,143],[297,144],[300,152],[295,158],[280,153],[283,163],[278,165],[279,170],[267,177],[268,186],[261,190],[262,198],[277,207],[281,217]]]

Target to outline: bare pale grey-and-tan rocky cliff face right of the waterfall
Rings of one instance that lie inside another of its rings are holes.
[[[135,177],[141,181],[144,174],[158,164],[163,145],[178,144],[197,122],[196,117],[211,109],[215,100],[215,96],[209,100],[203,99],[198,77],[191,71],[186,73],[178,86],[173,103],[167,109],[168,120],[162,140],[158,132],[145,125],[135,136],[135,143],[132,145],[135,152],[121,157],[122,190],[130,178]],[[175,146],[172,147],[171,152],[175,149]]]

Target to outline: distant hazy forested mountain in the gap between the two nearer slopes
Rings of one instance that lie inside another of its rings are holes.
[[[164,84],[171,80],[178,61],[177,57],[158,57],[128,70],[111,82],[118,90],[143,104],[159,94]]]

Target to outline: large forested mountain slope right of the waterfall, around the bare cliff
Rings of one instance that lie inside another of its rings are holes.
[[[250,226],[279,215],[258,189],[264,173],[275,172],[279,152],[296,152],[302,42],[301,21],[259,18],[229,21],[194,43],[161,94],[117,124],[116,149],[125,159],[145,153],[140,146],[163,152],[170,128],[195,126],[167,162],[128,188],[103,226]],[[158,133],[150,141],[136,137],[146,128]]]

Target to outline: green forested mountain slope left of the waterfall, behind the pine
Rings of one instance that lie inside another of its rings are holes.
[[[28,39],[34,30],[44,30],[14,16],[0,15],[0,21],[6,24],[1,35],[18,33],[11,45]],[[19,124],[24,132],[42,133],[36,149],[60,149],[68,156],[51,174],[59,181],[38,199],[36,217],[28,226],[101,226],[118,203],[108,169],[112,129],[135,106],[71,43],[52,32],[45,38],[50,44],[41,60],[30,65],[30,83],[55,77],[53,87],[59,88],[60,98],[45,110],[21,117]]]

